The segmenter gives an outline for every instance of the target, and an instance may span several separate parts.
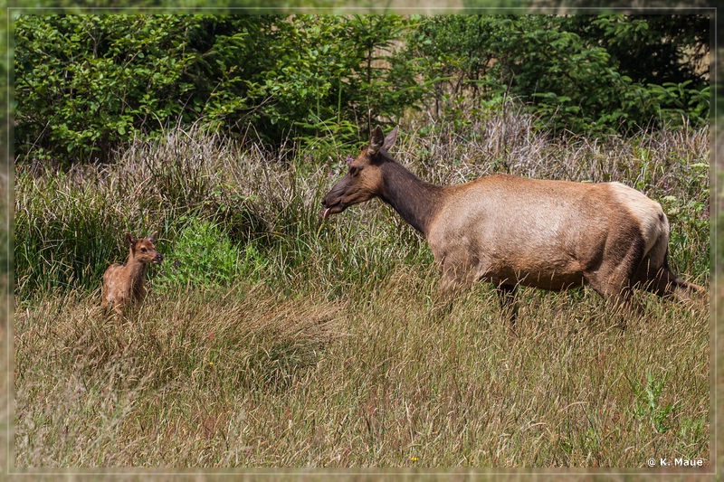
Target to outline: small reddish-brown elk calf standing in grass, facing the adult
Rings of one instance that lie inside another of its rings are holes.
[[[160,264],[164,259],[154,246],[156,236],[157,232],[154,232],[148,238],[134,239],[130,233],[126,233],[129,260],[126,264],[110,265],[103,274],[101,307],[112,307],[118,315],[122,315],[123,307],[129,302],[141,301],[146,297],[146,288],[143,286],[146,266],[148,263]]]

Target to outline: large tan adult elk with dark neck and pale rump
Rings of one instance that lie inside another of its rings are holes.
[[[448,301],[491,281],[504,304],[519,285],[561,290],[588,285],[629,307],[632,288],[667,296],[703,290],[667,263],[669,222],[659,203],[620,183],[582,184],[488,175],[457,185],[424,182],[388,154],[377,127],[322,204],[326,220],[379,197],[421,232],[443,269]],[[515,321],[515,308],[511,311]]]

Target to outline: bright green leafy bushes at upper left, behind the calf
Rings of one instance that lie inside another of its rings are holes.
[[[199,120],[279,146],[357,137],[424,91],[392,43],[400,16],[25,15],[15,24],[15,151],[110,160],[134,137]],[[390,55],[392,55],[390,57]],[[250,124],[253,129],[250,131]]]

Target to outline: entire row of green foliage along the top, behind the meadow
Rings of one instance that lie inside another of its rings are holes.
[[[706,122],[706,15],[23,15],[16,156],[108,160],[201,122],[271,145],[514,98],[540,128]],[[452,108],[452,109],[451,109]]]

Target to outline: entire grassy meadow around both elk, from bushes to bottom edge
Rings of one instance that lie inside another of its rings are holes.
[[[462,120],[409,116],[392,154],[438,184],[624,182],[662,203],[672,269],[709,285],[708,128]],[[16,165],[14,466],[709,469],[708,297],[638,292],[622,330],[591,290],[523,288],[513,331],[481,284],[441,315],[432,255],[389,207],[319,217],[365,141],[271,153],[175,128],[106,165]],[[156,230],[147,300],[104,315],[124,233]]]

